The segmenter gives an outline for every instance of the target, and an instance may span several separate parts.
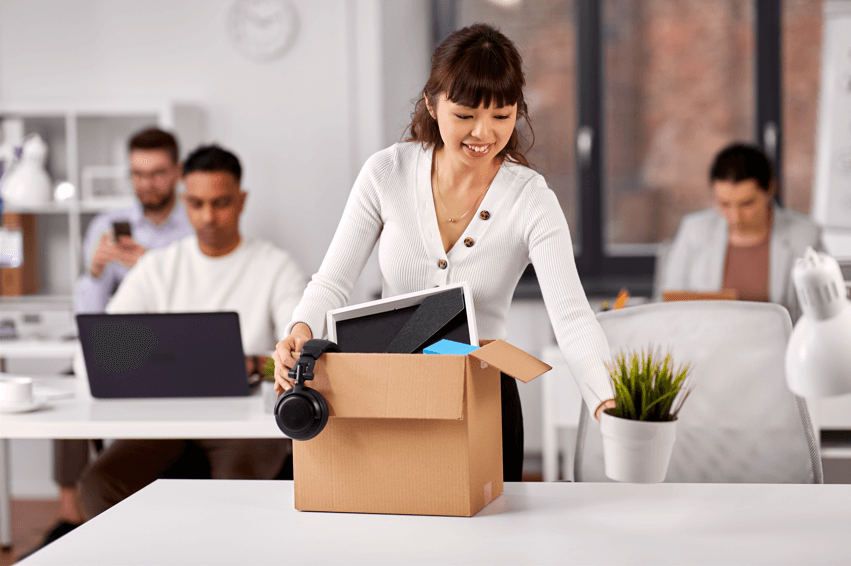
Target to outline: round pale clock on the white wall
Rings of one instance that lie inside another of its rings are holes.
[[[256,61],[280,57],[296,35],[289,0],[236,0],[228,12],[228,35],[240,53]]]

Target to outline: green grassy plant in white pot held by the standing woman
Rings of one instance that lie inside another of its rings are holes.
[[[691,393],[691,368],[674,369],[651,347],[621,352],[606,366],[616,406],[600,417],[606,476],[616,481],[658,483],[665,480],[676,439],[677,415]]]

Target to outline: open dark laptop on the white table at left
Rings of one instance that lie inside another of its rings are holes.
[[[250,392],[235,312],[78,314],[92,397]]]

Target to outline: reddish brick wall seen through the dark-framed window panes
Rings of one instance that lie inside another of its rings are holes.
[[[784,195],[808,212],[815,161],[823,0],[783,1]],[[496,24],[527,66],[529,153],[578,232],[576,30],[571,0],[510,7],[461,2],[462,23]],[[603,3],[605,241],[671,237],[683,214],[711,206],[714,155],[754,141],[752,0]]]

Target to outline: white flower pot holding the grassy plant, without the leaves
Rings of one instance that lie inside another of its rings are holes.
[[[677,421],[648,422],[600,416],[606,476],[615,481],[660,483],[677,435]]]

